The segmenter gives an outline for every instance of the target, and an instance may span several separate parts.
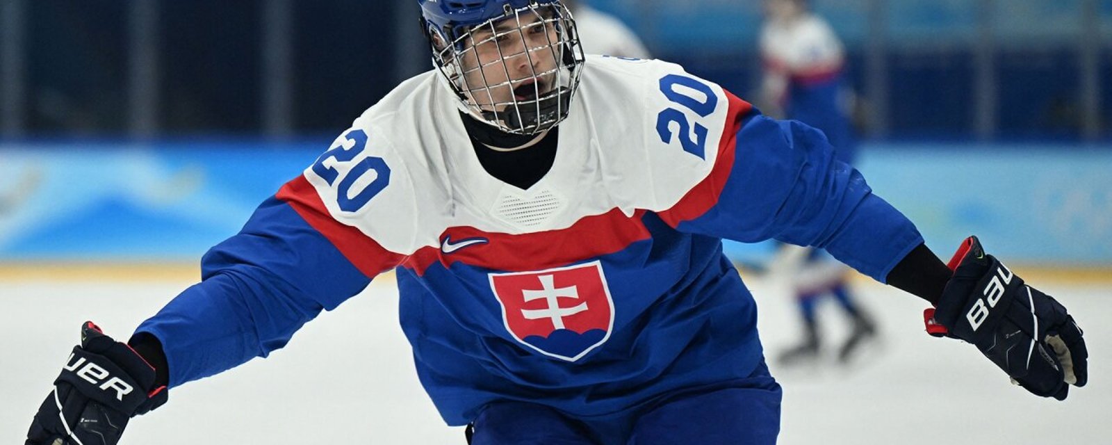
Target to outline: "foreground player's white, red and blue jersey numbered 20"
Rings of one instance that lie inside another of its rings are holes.
[[[824,247],[876,279],[922,241],[821,132],[678,66],[589,56],[556,159],[524,190],[483,169],[444,81],[371,107],[139,327],[171,386],[266,356],[394,269],[449,425],[496,400],[623,413],[762,363],[722,239]]]

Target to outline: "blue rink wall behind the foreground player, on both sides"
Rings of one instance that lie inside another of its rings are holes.
[[[290,144],[0,145],[0,261],[192,261],[324,150]],[[1112,266],[1112,149],[873,144],[860,169],[945,255]],[[770,244],[727,243],[758,263]]]

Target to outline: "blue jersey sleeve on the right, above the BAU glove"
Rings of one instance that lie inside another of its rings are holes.
[[[722,169],[728,172],[721,191],[699,198],[714,204],[678,222],[678,229],[824,248],[881,283],[923,241],[903,214],[872,192],[861,172],[836,159],[821,131],[755,109],[738,127],[733,156],[718,159],[732,162]]]

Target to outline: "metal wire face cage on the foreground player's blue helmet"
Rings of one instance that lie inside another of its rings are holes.
[[[579,83],[583,47],[559,2],[523,8],[471,27],[429,27],[433,62],[476,119],[515,135],[536,135],[567,117]]]

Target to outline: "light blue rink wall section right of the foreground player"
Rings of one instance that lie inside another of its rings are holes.
[[[873,191],[915,221],[940,256],[976,235],[1015,264],[1112,265],[1108,147],[874,144],[860,158]],[[726,250],[758,263],[772,247]]]

